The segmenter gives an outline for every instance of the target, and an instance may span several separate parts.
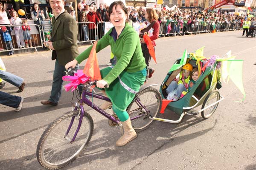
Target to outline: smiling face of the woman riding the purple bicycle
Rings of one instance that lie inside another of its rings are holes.
[[[110,14],[110,20],[114,27],[124,27],[127,16],[125,11],[117,5],[113,6],[113,11]]]

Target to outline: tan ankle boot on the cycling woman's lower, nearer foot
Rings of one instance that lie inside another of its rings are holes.
[[[137,137],[137,133],[135,132],[134,128],[131,126],[131,120],[130,118],[126,120],[125,122],[121,122],[124,128],[124,135],[121,136],[116,141],[116,146],[124,146],[128,142],[132,141]]]

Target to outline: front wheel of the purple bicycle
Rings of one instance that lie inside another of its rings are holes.
[[[76,159],[77,156],[89,143],[93,134],[93,119],[84,112],[79,132],[74,142],[70,142],[77,130],[80,114],[78,111],[68,112],[52,122],[42,134],[36,155],[38,162],[48,170],[56,170],[66,166]],[[73,124],[66,136],[70,122]]]

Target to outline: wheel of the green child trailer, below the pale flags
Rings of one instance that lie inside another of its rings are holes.
[[[210,105],[211,103],[217,102],[220,99],[220,93],[218,91],[212,91],[208,96],[205,98],[202,109],[207,107],[207,105]],[[205,109],[204,111],[201,112],[201,116],[204,119],[208,119],[212,114],[215,112],[215,110],[218,107],[218,103]]]

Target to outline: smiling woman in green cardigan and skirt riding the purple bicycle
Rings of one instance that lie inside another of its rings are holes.
[[[116,65],[100,71],[102,80],[97,81],[97,87],[104,88],[106,84],[109,84],[105,92],[111,99],[113,111],[124,128],[124,135],[116,142],[116,145],[123,146],[137,137],[126,108],[145,82],[146,64],[140,38],[126,21],[128,11],[122,1],[113,2],[109,7],[109,14],[114,27],[98,41],[96,52],[111,45],[111,51],[116,56],[117,62]],[[65,68],[74,68],[77,63],[87,59],[91,49],[92,46],[87,48],[76,59],[67,63]]]

